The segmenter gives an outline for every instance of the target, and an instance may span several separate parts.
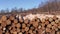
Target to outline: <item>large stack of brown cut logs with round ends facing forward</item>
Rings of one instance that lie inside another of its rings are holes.
[[[3,15],[0,18],[0,34],[60,34],[60,19],[56,16],[33,20]]]

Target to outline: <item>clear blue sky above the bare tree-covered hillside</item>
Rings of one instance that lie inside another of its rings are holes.
[[[0,10],[1,9],[12,9],[14,7],[31,9],[37,8],[41,2],[46,2],[47,0],[0,0]]]

